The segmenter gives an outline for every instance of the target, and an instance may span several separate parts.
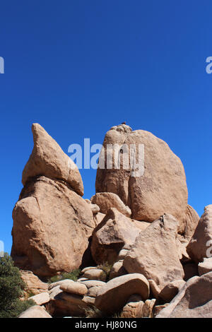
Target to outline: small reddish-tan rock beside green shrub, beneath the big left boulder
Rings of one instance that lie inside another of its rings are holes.
[[[24,289],[25,297],[31,292],[37,295],[47,291],[48,284],[43,283],[32,271],[20,270],[20,275],[26,286]]]

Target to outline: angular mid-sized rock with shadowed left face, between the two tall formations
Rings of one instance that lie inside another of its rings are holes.
[[[130,218],[110,208],[102,222],[95,228],[91,242],[91,253],[96,263],[114,263],[119,251],[130,247],[141,232],[140,227]]]

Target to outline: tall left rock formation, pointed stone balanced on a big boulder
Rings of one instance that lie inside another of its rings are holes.
[[[25,186],[13,210],[11,256],[19,268],[49,277],[87,259],[95,222],[89,204],[78,195],[83,194],[81,176],[69,168],[69,157],[40,125],[33,125],[33,134]]]

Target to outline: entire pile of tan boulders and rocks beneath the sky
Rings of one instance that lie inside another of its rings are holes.
[[[11,255],[37,305],[21,317],[83,316],[90,308],[105,316],[211,317],[212,205],[199,219],[187,204],[184,168],[167,144],[112,127],[100,162],[114,160],[107,144],[119,144],[120,168],[98,168],[96,194],[85,200],[76,165],[39,124],[33,137]],[[124,167],[131,145],[145,148],[136,177]],[[110,275],[100,267],[106,262]],[[43,283],[74,268],[83,268],[76,282]]]

